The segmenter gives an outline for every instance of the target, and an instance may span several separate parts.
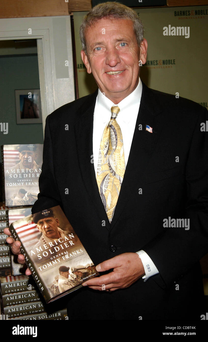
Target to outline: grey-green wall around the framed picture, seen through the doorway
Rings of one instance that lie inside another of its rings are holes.
[[[0,57],[1,122],[9,123],[8,134],[0,132],[0,145],[43,143],[42,123],[17,124],[15,89],[40,89],[38,56],[17,55]]]

